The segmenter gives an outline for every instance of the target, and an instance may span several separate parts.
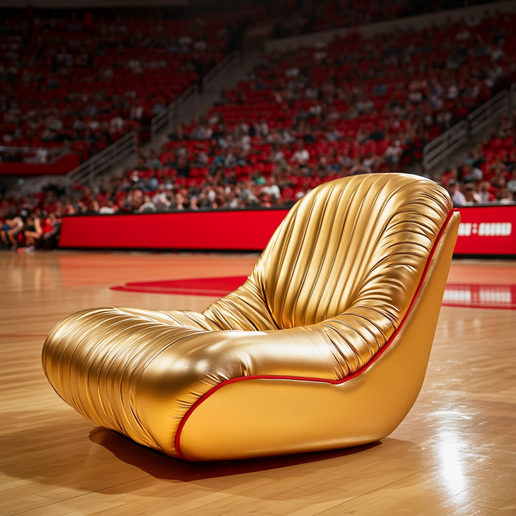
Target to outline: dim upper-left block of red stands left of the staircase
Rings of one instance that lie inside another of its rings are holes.
[[[11,14],[0,17],[0,145],[68,146],[82,160],[131,130],[147,139],[150,120],[235,44],[231,17],[216,14]]]

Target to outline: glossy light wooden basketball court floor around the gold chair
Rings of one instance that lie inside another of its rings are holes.
[[[244,276],[256,257],[0,253],[0,514],[516,514],[514,310],[443,307],[414,407],[360,448],[187,464],[90,423],[46,381],[45,335],[72,312],[202,310],[215,299],[109,286]],[[448,281],[516,285],[516,263],[454,261]]]

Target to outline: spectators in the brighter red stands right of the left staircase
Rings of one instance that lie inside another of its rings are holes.
[[[142,151],[134,168],[94,188],[4,192],[2,243],[50,245],[45,228],[57,228],[55,240],[63,215],[288,207],[326,181],[407,170],[427,142],[516,78],[515,22],[499,14],[263,56],[248,80],[174,128],[161,149]],[[514,131],[515,119],[504,118],[433,178],[455,206],[514,200]],[[40,222],[39,232],[35,220],[51,225]]]

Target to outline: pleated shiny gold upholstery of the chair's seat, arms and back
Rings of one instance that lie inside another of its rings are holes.
[[[47,337],[45,373],[92,421],[175,456],[183,417],[225,380],[341,380],[367,364],[407,313],[450,209],[445,190],[416,176],[321,185],[234,293],[202,314],[74,314]]]

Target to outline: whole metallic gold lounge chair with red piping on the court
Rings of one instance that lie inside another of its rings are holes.
[[[45,373],[91,421],[189,461],[377,441],[421,389],[459,221],[417,176],[325,183],[235,292],[202,314],[73,314]]]

